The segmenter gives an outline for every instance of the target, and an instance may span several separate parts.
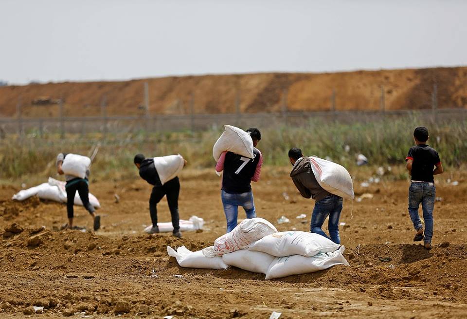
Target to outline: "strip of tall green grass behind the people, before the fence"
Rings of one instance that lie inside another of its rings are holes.
[[[418,123],[415,119],[381,120],[371,123],[340,124],[312,120],[306,128],[277,127],[261,129],[265,165],[288,166],[287,151],[300,147],[305,155],[328,156],[354,169],[356,156],[364,154],[372,165],[403,165],[413,145],[413,129],[425,124],[430,130],[429,144],[437,149],[445,166],[460,166],[467,159],[467,122],[446,124]],[[246,128],[244,128],[246,129]],[[92,166],[92,175],[118,179],[134,176],[133,156],[144,153],[158,156],[182,154],[194,168],[209,168],[215,163],[212,146],[221,130],[138,134],[90,134],[83,138],[67,135],[38,137],[10,136],[0,141],[0,180],[47,177],[55,173],[55,157],[60,151],[89,154],[93,145],[102,143]],[[346,151],[346,145],[349,149]]]

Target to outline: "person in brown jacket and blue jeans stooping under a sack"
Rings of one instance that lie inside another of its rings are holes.
[[[342,197],[326,191],[316,180],[311,169],[310,158],[305,157],[302,150],[292,148],[288,151],[288,158],[293,165],[290,177],[293,184],[305,198],[313,198],[316,203],[311,215],[310,231],[320,234],[336,244],[341,244],[339,237],[339,218],[342,211]],[[327,228],[329,236],[324,233],[321,227],[329,216]]]

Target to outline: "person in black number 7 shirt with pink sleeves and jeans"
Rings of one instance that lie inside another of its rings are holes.
[[[256,149],[261,140],[261,132],[251,128],[247,133],[253,140],[253,158],[225,151],[216,164],[216,172],[224,171],[221,198],[227,220],[227,232],[231,232],[237,225],[238,206],[245,209],[247,218],[256,217],[251,181],[259,181],[263,166],[263,155]]]

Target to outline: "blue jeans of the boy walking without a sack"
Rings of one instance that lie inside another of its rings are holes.
[[[431,185],[430,185],[431,184]],[[425,221],[425,243],[431,243],[433,237],[433,209],[436,188],[433,183],[412,182],[409,187],[409,215],[415,230],[422,228],[418,215],[418,206],[422,203],[423,219]]]

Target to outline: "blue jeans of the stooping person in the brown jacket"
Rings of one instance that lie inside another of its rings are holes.
[[[341,237],[339,237],[339,218],[342,211],[342,197],[337,195],[328,195],[322,200],[315,203],[313,214],[311,215],[310,231],[315,234],[320,234],[336,244],[341,244]],[[329,236],[321,229],[329,216],[327,229]]]

